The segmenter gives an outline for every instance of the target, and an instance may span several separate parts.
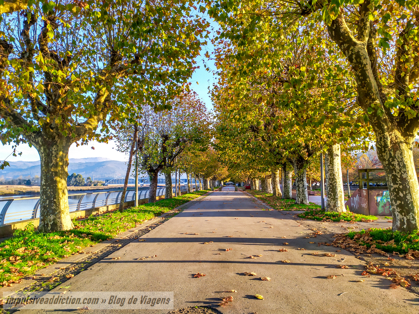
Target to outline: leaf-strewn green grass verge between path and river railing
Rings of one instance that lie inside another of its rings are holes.
[[[79,254],[85,247],[112,238],[207,192],[192,192],[142,204],[127,208],[122,213],[113,211],[91,215],[84,220],[74,219],[75,228],[70,231],[41,233],[32,224],[28,224],[24,230],[16,230],[13,237],[1,243],[0,285],[20,283],[22,277],[32,275],[62,258]]]

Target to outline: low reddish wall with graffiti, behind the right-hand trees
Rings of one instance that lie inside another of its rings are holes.
[[[391,216],[390,197],[387,189],[357,189],[345,203],[349,210],[363,215]]]

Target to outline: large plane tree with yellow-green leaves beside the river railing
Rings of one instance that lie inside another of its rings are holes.
[[[71,144],[106,141],[109,126],[135,104],[153,100],[161,110],[162,99],[184,90],[207,36],[193,10],[182,0],[34,1],[2,15],[1,141],[39,152],[39,230],[72,228]]]

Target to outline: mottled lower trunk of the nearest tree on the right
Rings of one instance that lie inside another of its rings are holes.
[[[377,154],[385,170],[393,231],[411,232],[419,228],[419,184],[413,162],[414,136],[393,131],[375,132]]]

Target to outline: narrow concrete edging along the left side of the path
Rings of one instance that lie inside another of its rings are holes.
[[[99,250],[103,249],[104,247],[107,247],[108,245],[111,245],[112,243],[117,242],[120,239],[124,239],[129,234],[132,234],[132,232],[140,231],[140,230],[146,228],[147,226],[149,226],[150,224],[154,224],[155,222],[159,221],[160,219],[166,218],[166,216],[171,216],[171,214],[173,214],[173,213],[178,213],[179,209],[184,210],[186,208],[189,208],[190,206],[194,205],[197,201],[201,201],[203,198],[207,197],[211,193],[212,193],[212,191],[209,191],[208,193],[205,193],[202,196],[194,198],[191,201],[188,201],[188,202],[186,202],[182,205],[179,205],[179,206],[173,208],[173,210],[171,210],[171,211],[166,211],[166,213],[164,213],[160,216],[156,216],[156,217],[148,220],[145,224],[141,224],[141,225],[136,226],[134,228],[128,229],[127,231],[118,234],[116,237],[114,237],[112,239],[109,239],[109,240],[106,240],[106,241],[101,241],[101,242],[97,243],[96,245],[94,245],[93,247],[85,247],[83,249],[85,251],[85,254],[83,254],[83,253],[74,254],[74,255],[71,255],[67,258],[63,258],[63,259],[59,260],[57,263],[51,264],[51,265],[49,265],[45,268],[40,268],[33,275],[28,275],[27,277],[41,275],[41,274],[48,274],[48,275],[44,275],[46,277],[47,276],[52,276],[53,273],[55,273],[57,270],[59,270],[60,267],[65,267],[65,266],[68,266],[72,263],[76,263],[79,260],[82,260],[83,258],[85,258],[87,255],[91,255],[93,253],[96,253]],[[167,218],[169,218],[169,217],[167,217]],[[37,281],[33,280],[33,279],[23,279],[21,283],[14,283],[13,286],[11,286],[11,287],[0,288],[0,291],[3,291],[3,292],[19,291],[19,290],[21,290],[21,289],[23,289],[27,286],[30,286],[32,283],[35,283],[35,282],[37,282]],[[0,296],[0,298],[1,298],[1,296]]]

